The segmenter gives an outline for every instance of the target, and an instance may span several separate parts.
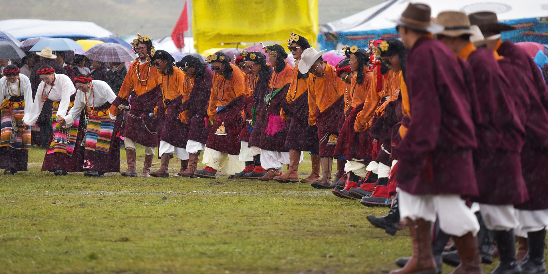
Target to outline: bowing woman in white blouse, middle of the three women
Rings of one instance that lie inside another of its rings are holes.
[[[53,132],[42,164],[42,171],[50,171],[55,175],[80,172],[83,170],[84,161],[81,146],[84,124],[80,123],[79,116],[74,119],[74,123],[68,129],[59,124],[59,121],[65,120],[68,110],[74,104],[76,89],[67,75],[55,73],[55,69],[50,66],[40,67],[38,75],[42,82],[38,85],[30,112],[25,113],[23,126],[27,129],[28,126],[34,125],[42,111],[44,102],[53,101]]]

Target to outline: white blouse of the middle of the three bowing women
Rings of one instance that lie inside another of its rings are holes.
[[[36,123],[38,116],[40,116],[40,112],[42,112],[42,107],[44,106],[42,98],[45,98],[45,96],[48,96],[49,100],[59,102],[57,116],[65,118],[67,115],[68,104],[70,103],[70,97],[76,92],[76,88],[74,87],[72,80],[67,75],[58,73],[55,73],[55,83],[51,92],[49,92],[50,88],[52,88],[52,86],[44,83],[44,81],[38,85],[32,108],[30,112],[25,113],[25,116],[23,117],[25,124],[34,125]],[[44,91],[43,95],[42,90]]]

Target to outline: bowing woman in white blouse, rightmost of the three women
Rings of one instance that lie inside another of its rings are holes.
[[[85,74],[79,74],[74,84],[78,89],[74,106],[65,118],[59,119],[59,124],[71,126],[84,110],[84,175],[103,177],[105,172],[119,172],[120,139],[117,133],[123,119],[117,121],[109,111],[116,95],[105,81],[93,80]]]

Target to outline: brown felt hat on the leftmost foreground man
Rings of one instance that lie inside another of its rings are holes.
[[[392,20],[398,26],[409,27],[419,31],[439,32],[443,27],[430,20],[430,7],[425,4],[409,3],[399,19]]]

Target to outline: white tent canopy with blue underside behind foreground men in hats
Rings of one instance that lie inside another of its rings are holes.
[[[322,25],[320,27],[322,33],[318,36],[318,43],[322,45],[325,45],[326,42],[327,44],[333,44],[333,39],[338,39],[339,43],[344,44],[356,39],[380,37],[378,34],[383,33],[395,34],[395,31],[382,32],[380,30],[393,30],[396,24],[391,19],[398,19],[409,2],[429,5],[432,16],[447,10],[459,10],[467,14],[477,11],[493,11],[500,21],[548,16],[548,0],[491,0],[489,2],[478,2],[477,0],[389,0],[346,18]],[[348,39],[339,39],[343,37]],[[324,39],[326,42],[323,41]],[[324,48],[330,49],[329,46]]]

